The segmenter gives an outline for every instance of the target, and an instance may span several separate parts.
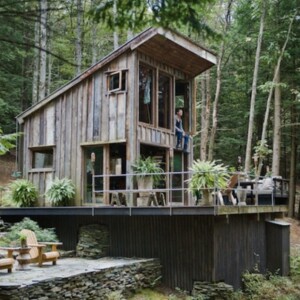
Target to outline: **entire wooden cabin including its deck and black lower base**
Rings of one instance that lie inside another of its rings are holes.
[[[273,222],[287,212],[286,203],[272,196],[272,205],[185,206],[192,202],[180,187],[193,139],[189,153],[176,149],[175,109],[183,109],[184,129],[193,136],[195,77],[215,63],[213,53],[186,37],[150,28],[24,111],[17,117],[24,132],[20,171],[41,194],[55,177],[71,178],[76,207],[2,208],[1,216],[55,227],[65,250],[75,249],[81,225],[104,224],[110,256],[159,258],[162,280],[173,288],[191,291],[194,281],[239,288],[241,274],[257,266],[288,274],[289,226]],[[140,156],[178,172],[162,183],[179,188],[166,193],[172,205],[132,207],[133,196],[128,206],[107,205],[110,191],[136,189],[130,174]],[[40,205],[48,206],[44,199]]]

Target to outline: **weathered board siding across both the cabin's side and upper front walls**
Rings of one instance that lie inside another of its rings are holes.
[[[171,68],[138,52],[126,52],[105,69],[98,70],[78,84],[59,94],[51,102],[25,118],[24,166],[25,177],[38,183],[40,193],[49,185],[50,178],[68,177],[76,185],[76,205],[83,198],[84,146],[127,141],[127,165],[136,159],[138,142],[163,147],[174,147],[174,129],[138,124],[138,66],[149,64],[175,78],[187,80],[180,70]],[[107,72],[127,70],[125,91],[107,91]],[[174,86],[175,90],[175,86]],[[174,95],[175,91],[173,92]],[[174,111],[172,104],[172,111]],[[157,118],[157,117],[155,117]],[[174,114],[171,116],[173,121]],[[32,169],[32,152],[27,149],[53,147],[53,169]],[[192,149],[192,141],[190,148]],[[127,170],[130,171],[130,170]],[[44,180],[44,182],[43,182]],[[130,187],[132,183],[127,182]]]

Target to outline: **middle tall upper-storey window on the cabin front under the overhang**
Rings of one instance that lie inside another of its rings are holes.
[[[171,129],[171,77],[159,74],[158,126]]]

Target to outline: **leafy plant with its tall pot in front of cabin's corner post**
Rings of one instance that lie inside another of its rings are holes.
[[[153,186],[162,179],[164,170],[153,157],[140,157],[132,165],[133,173],[136,174],[137,185],[139,190],[152,190]],[[140,204],[147,205],[149,192],[139,192]]]

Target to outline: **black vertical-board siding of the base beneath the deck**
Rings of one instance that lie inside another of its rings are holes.
[[[191,290],[194,281],[241,286],[241,274],[266,267],[265,219],[260,215],[225,216],[32,216],[54,227],[63,249],[75,249],[79,227],[104,224],[110,231],[110,256],[154,257],[163,282]],[[16,218],[6,217],[5,221]]]

